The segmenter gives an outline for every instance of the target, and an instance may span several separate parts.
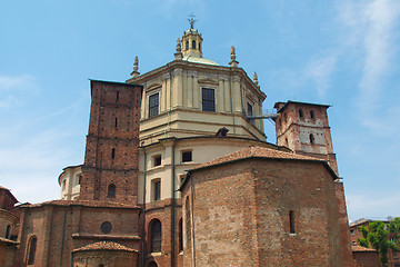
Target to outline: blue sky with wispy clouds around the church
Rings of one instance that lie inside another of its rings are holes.
[[[20,201],[59,197],[83,162],[88,79],[124,81],[173,60],[193,12],[203,56],[230,47],[276,101],[332,105],[349,218],[400,216],[400,1],[21,0],[0,3],[0,185]],[[268,141],[274,127],[266,121]]]

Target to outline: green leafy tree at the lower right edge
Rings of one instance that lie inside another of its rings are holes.
[[[357,238],[357,241],[362,247],[372,247],[379,253],[379,260],[383,267],[388,266],[388,251],[393,249],[400,251],[400,248],[396,245],[399,243],[400,235],[400,218],[392,219],[387,226],[382,221],[372,221],[368,228],[360,226],[359,230],[363,238]],[[389,240],[389,234],[393,234],[394,243]]]

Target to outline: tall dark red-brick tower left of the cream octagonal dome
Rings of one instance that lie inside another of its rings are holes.
[[[91,80],[80,199],[138,204],[142,87]]]

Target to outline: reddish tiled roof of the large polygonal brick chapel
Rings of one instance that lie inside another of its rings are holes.
[[[209,162],[202,164],[197,166],[194,169],[200,169],[203,167],[208,167],[208,166],[212,166],[212,165],[219,165],[219,164],[224,164],[224,162],[229,162],[229,161],[234,161],[234,160],[239,160],[239,159],[244,159],[244,158],[273,158],[273,159],[298,159],[298,160],[313,160],[313,161],[324,161],[323,159],[319,159],[319,158],[313,158],[313,157],[307,157],[307,156],[302,156],[302,155],[297,155],[293,152],[284,152],[284,151],[280,151],[280,150],[276,150],[276,149],[271,149],[271,148],[263,148],[263,147],[248,147],[248,148],[243,148],[237,152],[223,156],[221,158],[211,160]]]

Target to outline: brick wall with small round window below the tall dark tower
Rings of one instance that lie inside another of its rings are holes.
[[[37,238],[34,266],[71,266],[71,251],[99,240],[113,240],[139,250],[138,220],[140,208],[109,207],[56,200],[22,207],[23,224],[16,266],[26,266],[31,238]],[[101,231],[109,221],[110,233]]]

